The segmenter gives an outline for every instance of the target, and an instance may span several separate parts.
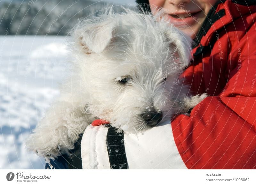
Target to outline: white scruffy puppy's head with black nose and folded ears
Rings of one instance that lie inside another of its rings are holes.
[[[87,113],[131,132],[170,119],[190,38],[156,19],[110,11],[74,28],[74,79]]]

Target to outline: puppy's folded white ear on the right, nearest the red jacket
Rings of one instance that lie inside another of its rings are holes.
[[[183,67],[188,66],[191,59],[191,43],[190,36],[181,32],[178,28],[172,26],[164,32],[167,41],[170,43],[171,51],[176,51],[179,56],[179,64]]]

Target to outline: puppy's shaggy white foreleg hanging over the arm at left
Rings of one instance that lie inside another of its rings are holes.
[[[46,160],[68,153],[85,128],[93,121],[81,101],[63,95],[46,112],[45,117],[26,142],[26,147]]]

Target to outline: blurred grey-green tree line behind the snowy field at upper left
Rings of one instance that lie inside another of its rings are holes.
[[[24,0],[0,2],[0,34],[67,35],[78,18],[106,7],[89,0]],[[120,6],[114,6],[121,11]]]

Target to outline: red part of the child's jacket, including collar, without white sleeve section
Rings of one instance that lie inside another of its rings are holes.
[[[256,5],[246,2],[213,7],[183,73],[191,91],[210,95],[172,120],[188,168],[256,168]]]

